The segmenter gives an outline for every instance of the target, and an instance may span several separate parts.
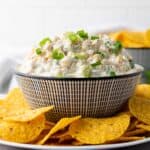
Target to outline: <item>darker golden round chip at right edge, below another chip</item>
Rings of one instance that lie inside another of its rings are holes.
[[[150,100],[144,97],[133,96],[129,100],[130,112],[138,120],[150,125]]]

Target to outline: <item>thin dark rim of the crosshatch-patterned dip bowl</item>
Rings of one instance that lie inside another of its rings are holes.
[[[111,80],[111,79],[120,79],[120,78],[127,78],[127,77],[133,77],[140,75],[143,72],[143,70],[139,70],[133,73],[129,74],[124,74],[124,75],[118,75],[118,76],[104,76],[104,77],[90,77],[90,78],[85,78],[85,77],[66,77],[66,78],[58,78],[58,77],[47,77],[47,76],[37,76],[37,75],[30,75],[30,74],[25,74],[19,71],[15,71],[15,76],[21,76],[21,77],[26,77],[26,78],[32,78],[32,79],[40,79],[40,80]]]

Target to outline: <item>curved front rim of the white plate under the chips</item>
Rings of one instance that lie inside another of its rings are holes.
[[[19,149],[30,149],[30,150],[104,150],[104,149],[117,149],[117,148],[125,148],[130,146],[135,146],[138,144],[143,144],[150,142],[150,138],[146,138],[143,140],[119,143],[119,144],[104,144],[104,145],[86,145],[86,146],[42,146],[42,145],[33,145],[33,144],[19,144],[14,142],[7,142],[0,140],[0,145],[8,146]]]

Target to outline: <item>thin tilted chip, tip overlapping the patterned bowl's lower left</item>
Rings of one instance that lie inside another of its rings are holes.
[[[20,114],[14,115],[14,116],[6,117],[6,118],[4,118],[4,120],[27,122],[27,121],[31,121],[31,120],[35,119],[36,117],[38,117],[42,114],[45,114],[46,112],[50,111],[51,109],[53,109],[53,106],[42,107],[42,108],[37,108],[37,109],[33,109],[33,110],[27,110]]]

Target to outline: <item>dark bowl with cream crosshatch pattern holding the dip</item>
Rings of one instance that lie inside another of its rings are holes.
[[[116,77],[51,78],[16,72],[32,108],[54,105],[49,120],[82,115],[105,117],[118,112],[132,96],[141,71]]]

